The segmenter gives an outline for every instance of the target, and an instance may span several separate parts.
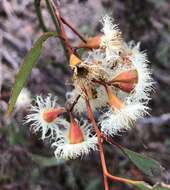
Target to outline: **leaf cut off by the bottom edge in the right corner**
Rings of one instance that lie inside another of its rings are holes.
[[[133,185],[135,188],[137,188],[135,190],[170,190],[170,186],[163,183],[151,187],[147,183],[140,181],[140,182],[135,182]]]

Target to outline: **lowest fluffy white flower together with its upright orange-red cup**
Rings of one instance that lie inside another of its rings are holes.
[[[70,126],[52,144],[55,147],[57,159],[75,159],[88,155],[90,151],[97,150],[97,137],[92,133],[91,125],[87,121],[79,124],[71,119]]]

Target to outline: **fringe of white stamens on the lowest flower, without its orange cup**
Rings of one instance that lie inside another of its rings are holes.
[[[55,147],[55,157],[57,159],[75,159],[77,157],[83,157],[88,155],[91,150],[97,150],[97,137],[91,132],[91,125],[86,121],[80,125],[80,130],[83,133],[82,142],[71,143],[69,138],[70,128],[62,131],[60,138],[52,144]]]

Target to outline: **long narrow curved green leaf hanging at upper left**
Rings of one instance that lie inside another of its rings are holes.
[[[57,33],[56,32],[47,32],[44,33],[34,44],[34,46],[32,47],[32,49],[28,52],[28,54],[26,55],[20,70],[17,74],[16,80],[15,80],[15,84],[12,90],[12,95],[11,95],[11,99],[9,101],[9,105],[8,105],[8,111],[7,114],[10,114],[15,106],[15,103],[17,101],[17,98],[25,84],[25,82],[27,81],[27,78],[29,76],[29,74],[32,71],[33,66],[35,65],[36,61],[38,60],[42,49],[43,49],[43,43],[52,36],[56,36]]]

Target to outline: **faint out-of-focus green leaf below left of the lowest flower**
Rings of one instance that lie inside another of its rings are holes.
[[[36,154],[30,154],[31,159],[41,167],[58,166],[64,163],[64,160],[57,160],[55,157],[44,157]]]

